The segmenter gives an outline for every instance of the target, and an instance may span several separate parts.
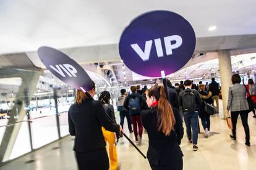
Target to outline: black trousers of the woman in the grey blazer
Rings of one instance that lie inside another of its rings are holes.
[[[244,126],[244,132],[245,132],[245,140],[249,142],[250,140],[250,129],[248,125],[248,111],[231,111],[231,121],[233,124],[233,135],[236,136],[236,123],[238,115],[240,114],[242,119],[242,126]]]

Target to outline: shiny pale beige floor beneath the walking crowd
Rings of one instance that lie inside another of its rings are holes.
[[[117,116],[119,118],[119,116]],[[251,147],[244,145],[244,129],[239,119],[237,124],[237,142],[229,139],[226,121],[220,116],[211,117],[212,136],[208,139],[203,133],[198,137],[198,151],[192,151],[192,145],[187,142],[186,136],[182,139],[182,152],[184,153],[184,169],[256,169],[256,119],[249,115],[249,126],[251,136]],[[201,129],[202,125],[200,123]],[[185,127],[185,125],[184,125]],[[125,128],[129,134],[127,127]],[[202,130],[201,130],[202,131]],[[74,152],[72,152],[73,137],[65,137],[58,142],[50,144],[36,152],[30,153],[22,158],[12,161],[2,167],[6,169],[76,169]],[[139,146],[144,154],[147,153],[148,137],[143,134],[143,144]],[[21,144],[22,146],[22,144]],[[54,148],[59,147],[59,148]],[[150,169],[148,161],[145,160],[129,142],[122,138],[118,144],[118,156],[121,169]],[[25,164],[25,161],[35,160],[33,163]]]

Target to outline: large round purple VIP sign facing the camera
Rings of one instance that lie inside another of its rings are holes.
[[[160,77],[181,69],[195,50],[195,32],[181,15],[154,10],[132,20],[121,35],[119,54],[130,70]]]

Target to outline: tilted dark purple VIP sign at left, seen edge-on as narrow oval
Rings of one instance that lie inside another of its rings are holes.
[[[92,79],[85,70],[63,52],[51,47],[40,47],[38,55],[46,68],[64,83],[83,91],[90,91],[93,88]]]

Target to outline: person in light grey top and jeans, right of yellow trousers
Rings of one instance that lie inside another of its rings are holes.
[[[124,108],[124,100],[126,99],[126,96],[127,96],[126,89],[121,89],[121,96],[117,100],[117,111],[119,111],[120,124],[122,128],[124,128],[124,118],[126,118],[128,129],[130,133],[132,133],[134,131],[132,131],[132,124],[130,124],[130,113],[128,110],[126,110],[126,108]],[[122,135],[120,137],[122,137]]]

